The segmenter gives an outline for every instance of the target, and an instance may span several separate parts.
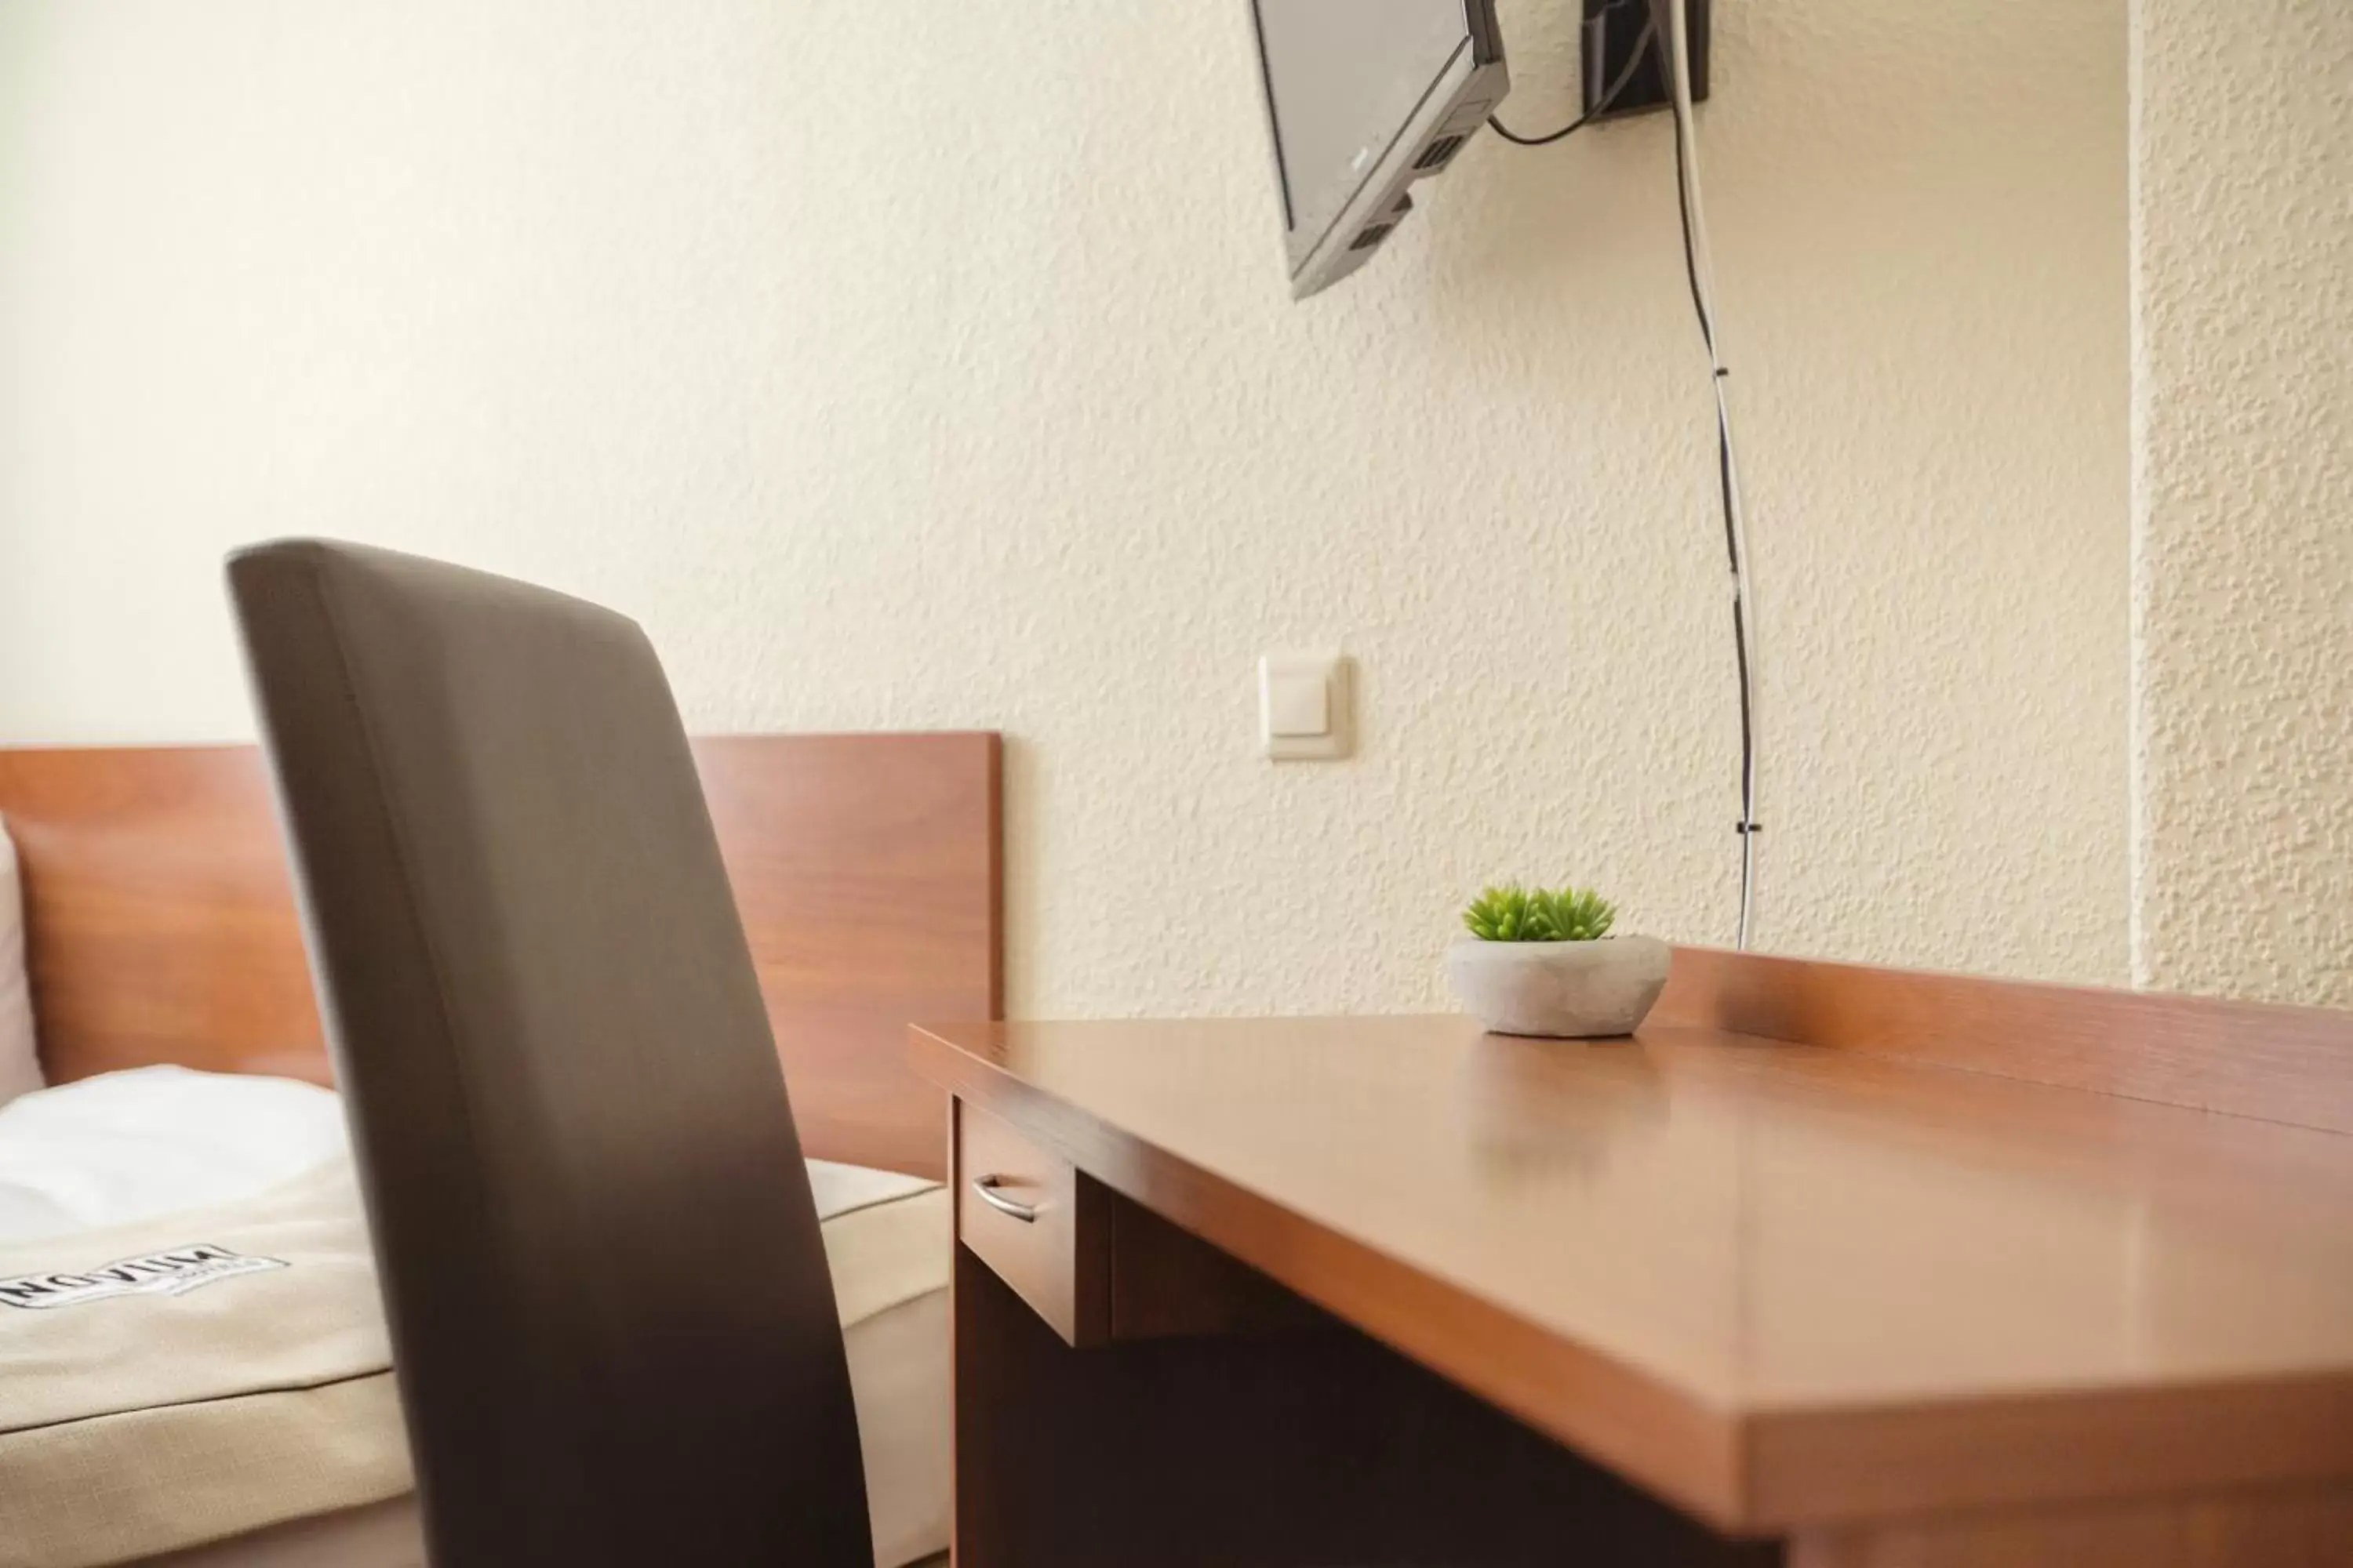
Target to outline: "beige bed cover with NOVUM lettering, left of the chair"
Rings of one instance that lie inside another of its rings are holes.
[[[351,1166],[0,1246],[0,1568],[92,1568],[398,1497]]]

